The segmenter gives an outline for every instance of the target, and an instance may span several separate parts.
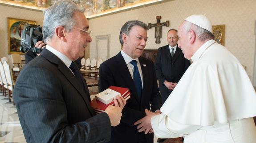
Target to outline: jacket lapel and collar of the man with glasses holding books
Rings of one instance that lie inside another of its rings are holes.
[[[67,80],[70,82],[71,85],[80,93],[81,97],[84,99],[86,106],[88,107],[89,111],[92,115],[94,115],[93,109],[89,106],[89,96],[85,94],[84,89],[81,88],[81,85],[79,84],[79,81],[77,81],[77,78],[74,77],[73,73],[69,70],[69,68],[52,52],[50,52],[47,49],[44,49],[41,53],[42,56],[44,56],[47,60],[52,62],[53,64],[58,66],[58,70],[67,78]],[[83,81],[84,82],[84,81]],[[87,90],[87,84],[84,83],[85,90]]]

